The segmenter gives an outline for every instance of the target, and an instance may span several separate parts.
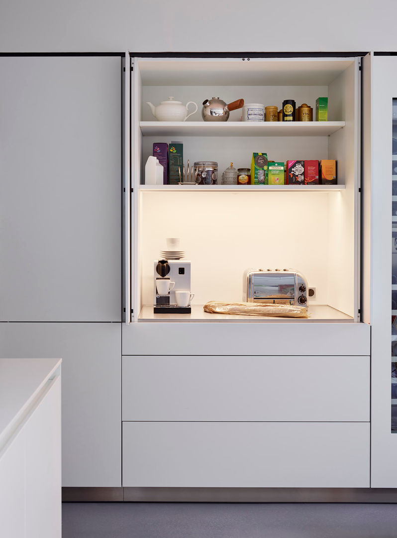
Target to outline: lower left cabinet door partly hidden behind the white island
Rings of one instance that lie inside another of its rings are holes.
[[[4,357],[62,357],[62,485],[121,485],[120,323],[0,323]]]

